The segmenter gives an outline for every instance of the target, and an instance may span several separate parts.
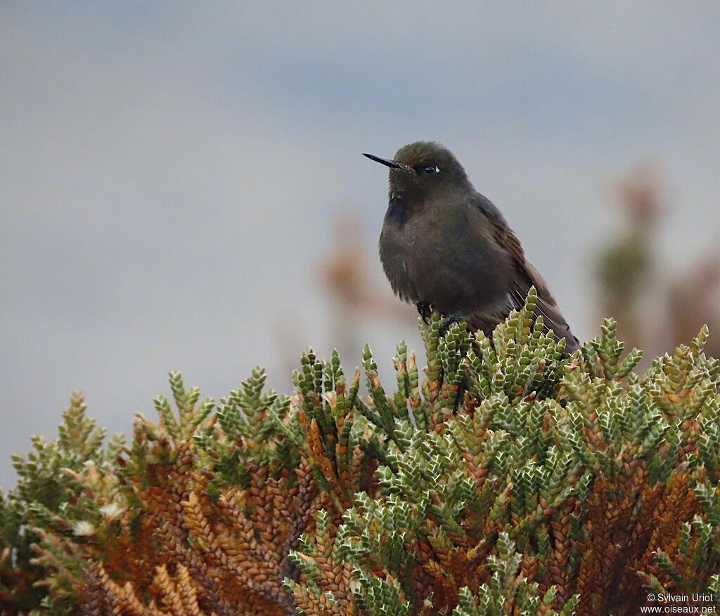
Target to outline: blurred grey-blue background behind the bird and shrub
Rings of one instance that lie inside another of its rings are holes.
[[[720,4],[4,0],[0,486],[71,391],[110,433],[312,345],[386,379],[390,157],[454,151],[582,340],[719,353]],[[392,387],[392,382],[388,384]]]

